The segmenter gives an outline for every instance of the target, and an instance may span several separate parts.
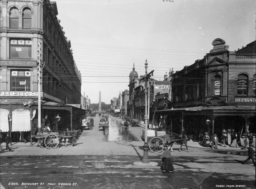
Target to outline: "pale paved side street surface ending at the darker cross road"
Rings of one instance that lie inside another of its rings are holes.
[[[55,149],[47,149],[45,147],[37,146],[36,142],[33,142],[33,145],[30,146],[30,142],[28,143],[12,143],[12,149],[14,152],[9,152],[8,150],[4,150],[0,152],[0,156],[10,156],[10,155],[107,155],[107,156],[119,156],[119,155],[127,155],[127,156],[140,156],[143,157],[143,145],[144,142],[141,139],[141,135],[143,130],[145,129],[143,125],[141,127],[129,127],[129,130],[125,131],[122,126],[119,129],[119,122],[122,121],[120,118],[110,117],[110,127],[109,130],[100,130],[98,128],[99,125],[99,117],[93,117],[94,119],[94,127],[92,130],[85,129],[83,130],[81,136],[78,138],[75,146],[67,143],[67,147],[61,145],[60,148]],[[149,141],[148,141],[149,142]],[[5,149],[5,143],[2,144]],[[215,151],[212,150],[211,147],[203,147],[200,142],[188,141],[187,146],[189,149],[189,153],[193,151],[191,148],[195,150],[198,148],[203,151]],[[177,151],[180,147],[180,144],[174,144],[173,149]],[[183,145],[182,150],[185,150],[185,146]],[[194,151],[195,151],[194,150]],[[226,145],[226,147],[218,146],[218,150],[223,151],[241,151],[247,152],[247,150],[242,150],[241,147],[230,147]],[[183,155],[189,156],[189,153]],[[207,152],[206,152],[207,153]],[[150,156],[159,156],[161,153],[150,153]],[[191,155],[191,154],[190,154]]]

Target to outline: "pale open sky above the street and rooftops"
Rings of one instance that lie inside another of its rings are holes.
[[[173,1],[173,2],[172,2]],[[163,80],[221,38],[235,51],[255,40],[256,0],[55,0],[60,25],[82,75],[81,94],[110,104],[138,75]]]

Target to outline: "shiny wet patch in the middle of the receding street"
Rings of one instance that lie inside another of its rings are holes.
[[[122,119],[109,118],[109,129],[103,131],[106,141],[140,141],[130,131],[125,130],[124,126],[119,129],[119,123]]]

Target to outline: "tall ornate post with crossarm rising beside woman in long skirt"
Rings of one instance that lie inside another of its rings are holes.
[[[144,140],[144,148],[143,148],[143,159],[142,159],[142,163],[149,163],[149,159],[148,159],[148,144],[147,144],[147,121],[148,121],[148,115],[147,115],[147,81],[150,78],[150,76],[153,76],[153,72],[154,70],[152,70],[150,73],[147,73],[147,60],[145,62],[145,77],[140,79],[140,82],[145,82],[145,140]]]

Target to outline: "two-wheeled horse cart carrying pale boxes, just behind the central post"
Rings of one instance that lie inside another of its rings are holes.
[[[149,141],[148,148],[151,150],[151,152],[154,152],[154,153],[162,152],[164,149],[164,145],[167,144],[166,141],[168,136],[170,136],[170,142],[178,142],[178,141],[184,140],[180,137],[180,135],[165,134],[162,136],[147,136],[147,141]],[[144,136],[141,136],[141,139],[145,142]]]

